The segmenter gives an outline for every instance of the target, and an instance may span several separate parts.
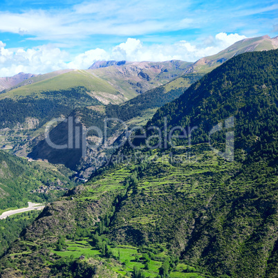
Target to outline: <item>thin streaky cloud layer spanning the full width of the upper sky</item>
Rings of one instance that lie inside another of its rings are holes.
[[[0,11],[0,32],[75,46],[82,43],[80,39],[100,34],[135,37],[187,29],[215,30],[219,26],[222,30],[244,30],[245,34],[252,27],[261,33],[262,22],[270,26],[273,21],[263,14],[277,10],[278,4],[258,3],[219,6],[211,1],[196,5],[191,0],[87,0],[59,9],[55,5],[48,10],[24,7],[23,12]],[[257,16],[250,21],[249,15]]]

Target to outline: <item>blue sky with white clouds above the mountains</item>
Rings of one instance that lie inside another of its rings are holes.
[[[278,33],[277,1],[0,1],[0,75],[98,59],[195,61]]]

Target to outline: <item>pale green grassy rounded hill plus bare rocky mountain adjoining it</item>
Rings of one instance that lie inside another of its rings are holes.
[[[66,69],[30,77],[3,91],[0,98],[26,97],[45,91],[71,90],[84,86],[89,94],[103,104],[119,104],[182,75],[190,64],[183,61],[100,62],[98,66],[102,67],[95,69]]]

